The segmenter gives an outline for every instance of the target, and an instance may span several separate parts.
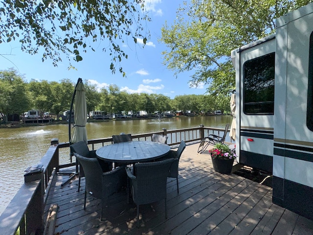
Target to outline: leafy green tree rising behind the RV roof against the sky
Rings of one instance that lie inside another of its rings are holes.
[[[161,29],[164,64],[177,75],[195,71],[192,85],[229,95],[235,88],[232,49],[275,31],[275,19],[312,0],[191,0],[177,10],[172,26]]]

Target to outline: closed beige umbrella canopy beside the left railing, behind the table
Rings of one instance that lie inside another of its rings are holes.
[[[87,140],[87,131],[86,131],[86,123],[87,123],[87,103],[85,96],[85,88],[82,82],[79,82],[75,88],[76,90],[76,98],[75,98],[75,108],[74,108],[74,132],[72,138],[70,139],[71,143],[77,143],[79,141]]]

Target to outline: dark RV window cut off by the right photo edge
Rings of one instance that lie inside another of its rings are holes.
[[[313,131],[313,32],[310,36],[307,127]]]

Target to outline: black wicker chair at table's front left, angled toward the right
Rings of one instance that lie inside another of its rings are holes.
[[[101,166],[96,158],[85,158],[74,153],[76,159],[82,164],[85,171],[86,186],[84,210],[86,209],[87,193],[102,200],[101,216],[106,206],[106,200],[109,196],[123,188],[125,179],[127,179],[125,166],[117,167],[109,172],[102,172]]]

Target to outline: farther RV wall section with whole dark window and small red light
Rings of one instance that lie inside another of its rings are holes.
[[[240,127],[236,128],[237,161],[272,172],[275,35],[233,50],[231,57],[236,69],[236,126]],[[264,82],[262,78],[268,77]],[[263,98],[267,94],[272,98]]]

